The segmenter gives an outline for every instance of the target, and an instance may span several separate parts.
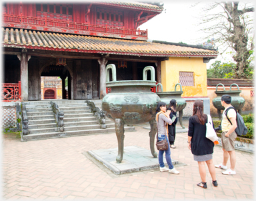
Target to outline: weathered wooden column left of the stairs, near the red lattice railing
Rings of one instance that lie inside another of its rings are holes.
[[[28,62],[31,58],[30,55],[27,55],[27,50],[23,49],[21,55],[17,55],[21,61],[21,101],[29,100],[29,71],[28,71]]]

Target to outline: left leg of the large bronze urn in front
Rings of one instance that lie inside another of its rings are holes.
[[[121,118],[115,119],[115,134],[117,135],[117,142],[118,142],[118,155],[117,155],[117,163],[121,163],[123,160],[123,140],[125,138],[124,129],[125,122]]]

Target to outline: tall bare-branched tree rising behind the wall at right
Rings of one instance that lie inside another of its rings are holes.
[[[219,10],[217,10],[219,8]],[[225,52],[229,47],[235,51],[236,62],[234,78],[247,78],[246,69],[250,67],[253,56],[253,12],[254,8],[239,1],[215,2],[203,8],[200,25],[207,33],[205,39],[214,37],[223,45]],[[251,14],[250,14],[251,13]]]

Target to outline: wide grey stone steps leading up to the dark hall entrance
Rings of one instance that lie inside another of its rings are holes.
[[[64,132],[58,132],[51,101],[64,112]],[[101,108],[101,100],[90,101]],[[25,104],[29,120],[29,134],[22,135],[22,141],[115,132],[114,122],[107,117],[107,128],[101,128],[85,100],[41,100],[22,104]],[[125,132],[134,130],[134,126],[125,126]]]

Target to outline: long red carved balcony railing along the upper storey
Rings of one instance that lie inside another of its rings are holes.
[[[119,27],[109,27],[102,25],[91,25],[89,23],[75,23],[69,20],[61,21],[57,19],[49,19],[47,17],[28,17],[22,15],[10,15],[3,14],[2,23],[9,23],[10,27],[15,28],[14,24],[19,24],[19,28],[27,28],[27,25],[36,25],[39,27],[54,27],[64,28],[64,29],[73,29],[73,30],[83,30],[83,31],[96,31],[103,33],[112,33],[112,34],[121,34],[121,35],[131,35],[131,36],[139,36],[147,38],[147,30],[143,31],[140,29],[126,29]],[[13,25],[13,26],[12,26]],[[23,27],[22,27],[23,25]],[[82,33],[81,33],[82,34]]]

